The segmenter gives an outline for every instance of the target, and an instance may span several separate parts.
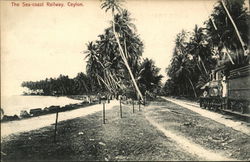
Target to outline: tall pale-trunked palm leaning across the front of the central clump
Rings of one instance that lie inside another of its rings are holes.
[[[128,60],[126,58],[126,54],[125,51],[124,51],[124,48],[122,47],[121,45],[121,42],[120,42],[120,34],[116,31],[116,26],[117,24],[115,24],[115,11],[117,11],[118,13],[121,14],[121,11],[122,11],[122,8],[121,8],[121,3],[119,0],[104,0],[104,2],[101,4],[101,8],[102,9],[105,9],[105,11],[107,12],[108,10],[111,10],[111,13],[112,13],[112,17],[113,17],[113,21],[112,21],[112,29],[113,29],[113,33],[114,33],[114,36],[115,36],[115,39],[116,39],[116,42],[118,44],[118,48],[119,48],[119,53],[121,55],[121,58],[129,72],[129,75],[131,77],[131,80],[134,84],[134,87],[139,95],[139,97],[143,100],[143,96],[142,96],[142,93],[136,83],[136,80],[134,78],[134,75],[132,73],[132,70],[129,66],[129,63],[128,63]]]

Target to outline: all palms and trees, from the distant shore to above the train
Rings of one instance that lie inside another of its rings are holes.
[[[244,2],[218,1],[204,26],[195,25],[193,31],[182,30],[176,35],[172,60],[166,68],[168,79],[162,86],[160,69],[153,60],[143,58],[144,44],[129,11],[119,0],[104,0],[101,8],[111,12],[112,20],[96,40],[86,43],[86,74],[78,73],[72,79],[60,75],[23,82],[22,86],[30,90],[26,94],[38,95],[106,92],[134,99],[143,99],[146,94],[197,98],[220,62],[230,68],[249,62],[249,14]]]

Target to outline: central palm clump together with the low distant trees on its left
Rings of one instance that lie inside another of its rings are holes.
[[[143,59],[143,43],[136,33],[130,13],[119,0],[105,0],[101,8],[111,10],[113,20],[98,39],[86,44],[86,75],[59,76],[37,82],[24,82],[33,94],[69,95],[106,91],[143,99],[145,93],[157,93],[162,76],[153,60]]]

